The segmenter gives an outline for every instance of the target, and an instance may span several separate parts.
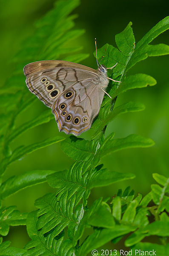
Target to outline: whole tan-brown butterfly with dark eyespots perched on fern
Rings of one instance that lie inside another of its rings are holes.
[[[49,60],[24,67],[27,87],[52,109],[59,131],[78,136],[91,127],[106,93],[103,88],[109,80],[115,81],[107,76],[107,69],[115,66],[106,68],[98,61],[97,65],[94,70],[69,61]]]

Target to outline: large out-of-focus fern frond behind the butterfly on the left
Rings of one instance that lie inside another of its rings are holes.
[[[32,102],[37,100],[26,87],[24,82],[25,77],[22,71],[23,67],[29,62],[37,61],[38,59],[50,59],[52,56],[54,59],[63,59],[62,55],[64,55],[66,58],[69,58],[69,61],[80,61],[88,56],[85,53],[77,54],[77,51],[82,49],[82,47],[75,45],[70,46],[72,45],[72,40],[78,38],[85,32],[84,29],[72,29],[74,27],[74,18],[77,17],[77,15],[68,16],[79,4],[79,0],[57,1],[53,9],[37,21],[34,35],[24,42],[22,51],[18,52],[12,59],[12,61],[15,62],[14,66],[16,70],[7,81],[7,87],[5,86],[2,89],[3,93],[6,94],[0,95],[0,104],[3,105],[6,113],[10,113],[9,118],[4,119],[4,126],[1,130],[5,135],[2,141],[2,144],[5,144],[5,149],[9,148],[11,141],[20,134],[23,134],[37,125],[49,122],[50,119],[54,118],[51,113],[49,114],[49,112],[47,113],[46,111],[36,119],[26,122],[14,129],[17,115],[26,110],[26,108],[29,108]],[[71,57],[71,54],[74,55]],[[6,88],[8,88],[8,90]],[[19,91],[15,94],[11,94],[11,88],[16,88],[16,90]],[[6,135],[6,127],[8,127],[8,135]],[[2,148],[3,162],[1,163],[1,173],[5,171],[9,163],[20,159],[25,154],[29,154],[38,148],[55,143],[57,140],[63,139],[55,137],[41,143],[15,148],[14,154],[12,154],[11,157],[6,157],[5,149]]]

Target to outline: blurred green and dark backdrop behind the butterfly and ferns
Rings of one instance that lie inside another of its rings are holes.
[[[34,22],[52,9],[54,0],[1,0],[1,47],[0,47],[0,77],[1,84],[14,70],[11,58],[23,47],[23,41],[31,37],[34,32]],[[110,1],[110,0],[82,0],[81,5],[73,13],[78,14],[75,20],[76,29],[85,29],[86,33],[78,38],[78,45],[83,46],[83,52],[89,53],[90,57],[81,64],[97,68],[94,39],[97,38],[97,48],[103,44],[115,45],[115,35],[121,32],[129,23],[133,23],[133,31],[136,43],[161,19],[169,15],[169,1],[143,0],[143,1]],[[152,44],[169,44],[169,32],[164,32]],[[74,44],[74,42],[72,42]],[[37,60],[39,61],[39,60]],[[143,195],[150,190],[154,183],[152,173],[168,176],[169,167],[169,56],[151,57],[136,64],[127,76],[135,73],[145,73],[157,80],[155,87],[129,90],[120,95],[116,107],[124,102],[138,101],[146,105],[142,112],[127,113],[118,116],[109,124],[106,134],[115,131],[117,137],[126,137],[136,133],[150,137],[155,141],[152,148],[127,149],[108,155],[102,161],[104,166],[116,172],[132,172],[136,175],[135,180],[128,180],[105,188],[93,189],[89,204],[96,198],[113,196],[119,188],[125,189],[131,186],[135,192]],[[26,84],[23,84],[26,86]],[[38,99],[17,119],[17,124],[32,120],[46,106]],[[14,143],[17,145],[29,145],[42,139],[59,135],[57,125],[53,119],[47,124],[34,128],[19,137]],[[62,133],[63,136],[66,134]],[[92,130],[87,131],[80,137],[90,139]],[[69,159],[61,150],[59,144],[35,151],[25,156],[22,160],[13,163],[3,176],[3,180],[13,175],[19,175],[29,170],[52,169],[64,170],[69,168],[73,160]],[[43,183],[38,186],[27,188],[4,201],[4,206],[17,205],[21,212],[30,212],[34,209],[34,201],[53,189]],[[6,240],[11,240],[12,246],[22,248],[29,241],[25,227],[12,227]]]

